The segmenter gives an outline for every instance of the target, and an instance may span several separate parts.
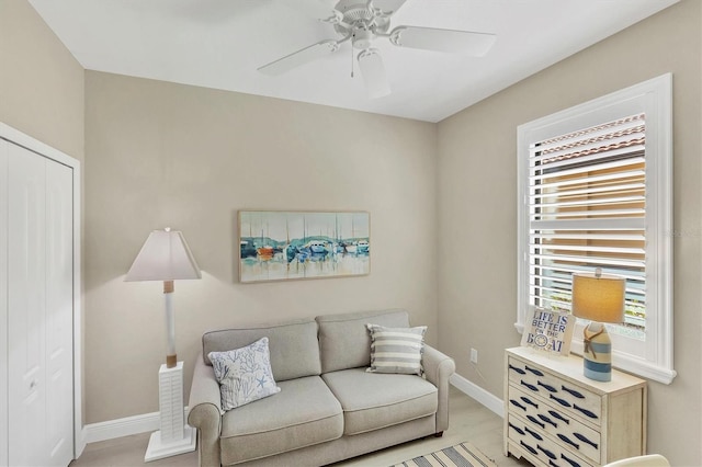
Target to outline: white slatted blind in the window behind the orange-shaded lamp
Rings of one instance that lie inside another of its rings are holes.
[[[626,323],[646,309],[646,118],[630,115],[529,147],[530,304],[570,309],[571,274],[626,278]]]

